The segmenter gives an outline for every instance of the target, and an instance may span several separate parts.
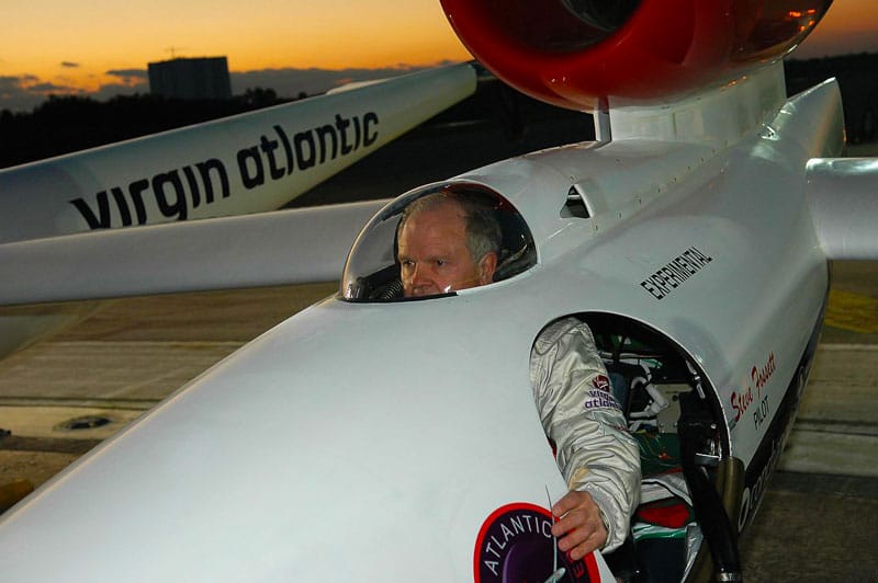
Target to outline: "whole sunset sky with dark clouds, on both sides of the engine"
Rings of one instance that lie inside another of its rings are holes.
[[[227,56],[233,92],[281,95],[469,58],[438,0],[4,0],[2,14],[0,110],[48,93],[145,93],[147,62],[175,56]],[[797,55],[863,50],[878,52],[878,1],[835,0]]]

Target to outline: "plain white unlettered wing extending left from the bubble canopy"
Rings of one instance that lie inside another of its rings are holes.
[[[328,282],[387,201],[0,244],[0,305]]]

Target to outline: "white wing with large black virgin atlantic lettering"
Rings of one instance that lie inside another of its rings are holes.
[[[273,210],[475,87],[452,65],[0,170],[0,242]]]

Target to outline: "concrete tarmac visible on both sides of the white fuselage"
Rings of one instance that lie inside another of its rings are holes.
[[[356,176],[329,187],[363,180]],[[0,485],[16,484],[5,490],[11,498],[38,487],[214,363],[335,290],[327,283],[106,301],[66,332],[0,361],[0,427],[10,432],[0,436]],[[795,431],[740,542],[745,581],[878,581],[876,397],[878,265],[836,263]],[[4,502],[11,501],[0,495],[0,511]]]

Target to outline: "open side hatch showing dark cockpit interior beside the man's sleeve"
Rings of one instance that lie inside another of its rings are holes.
[[[718,571],[739,572],[730,517],[740,513],[743,465],[731,456],[714,387],[657,330],[618,315],[583,319],[641,450],[641,504],[623,551],[607,558],[614,573],[706,581],[711,560]]]

